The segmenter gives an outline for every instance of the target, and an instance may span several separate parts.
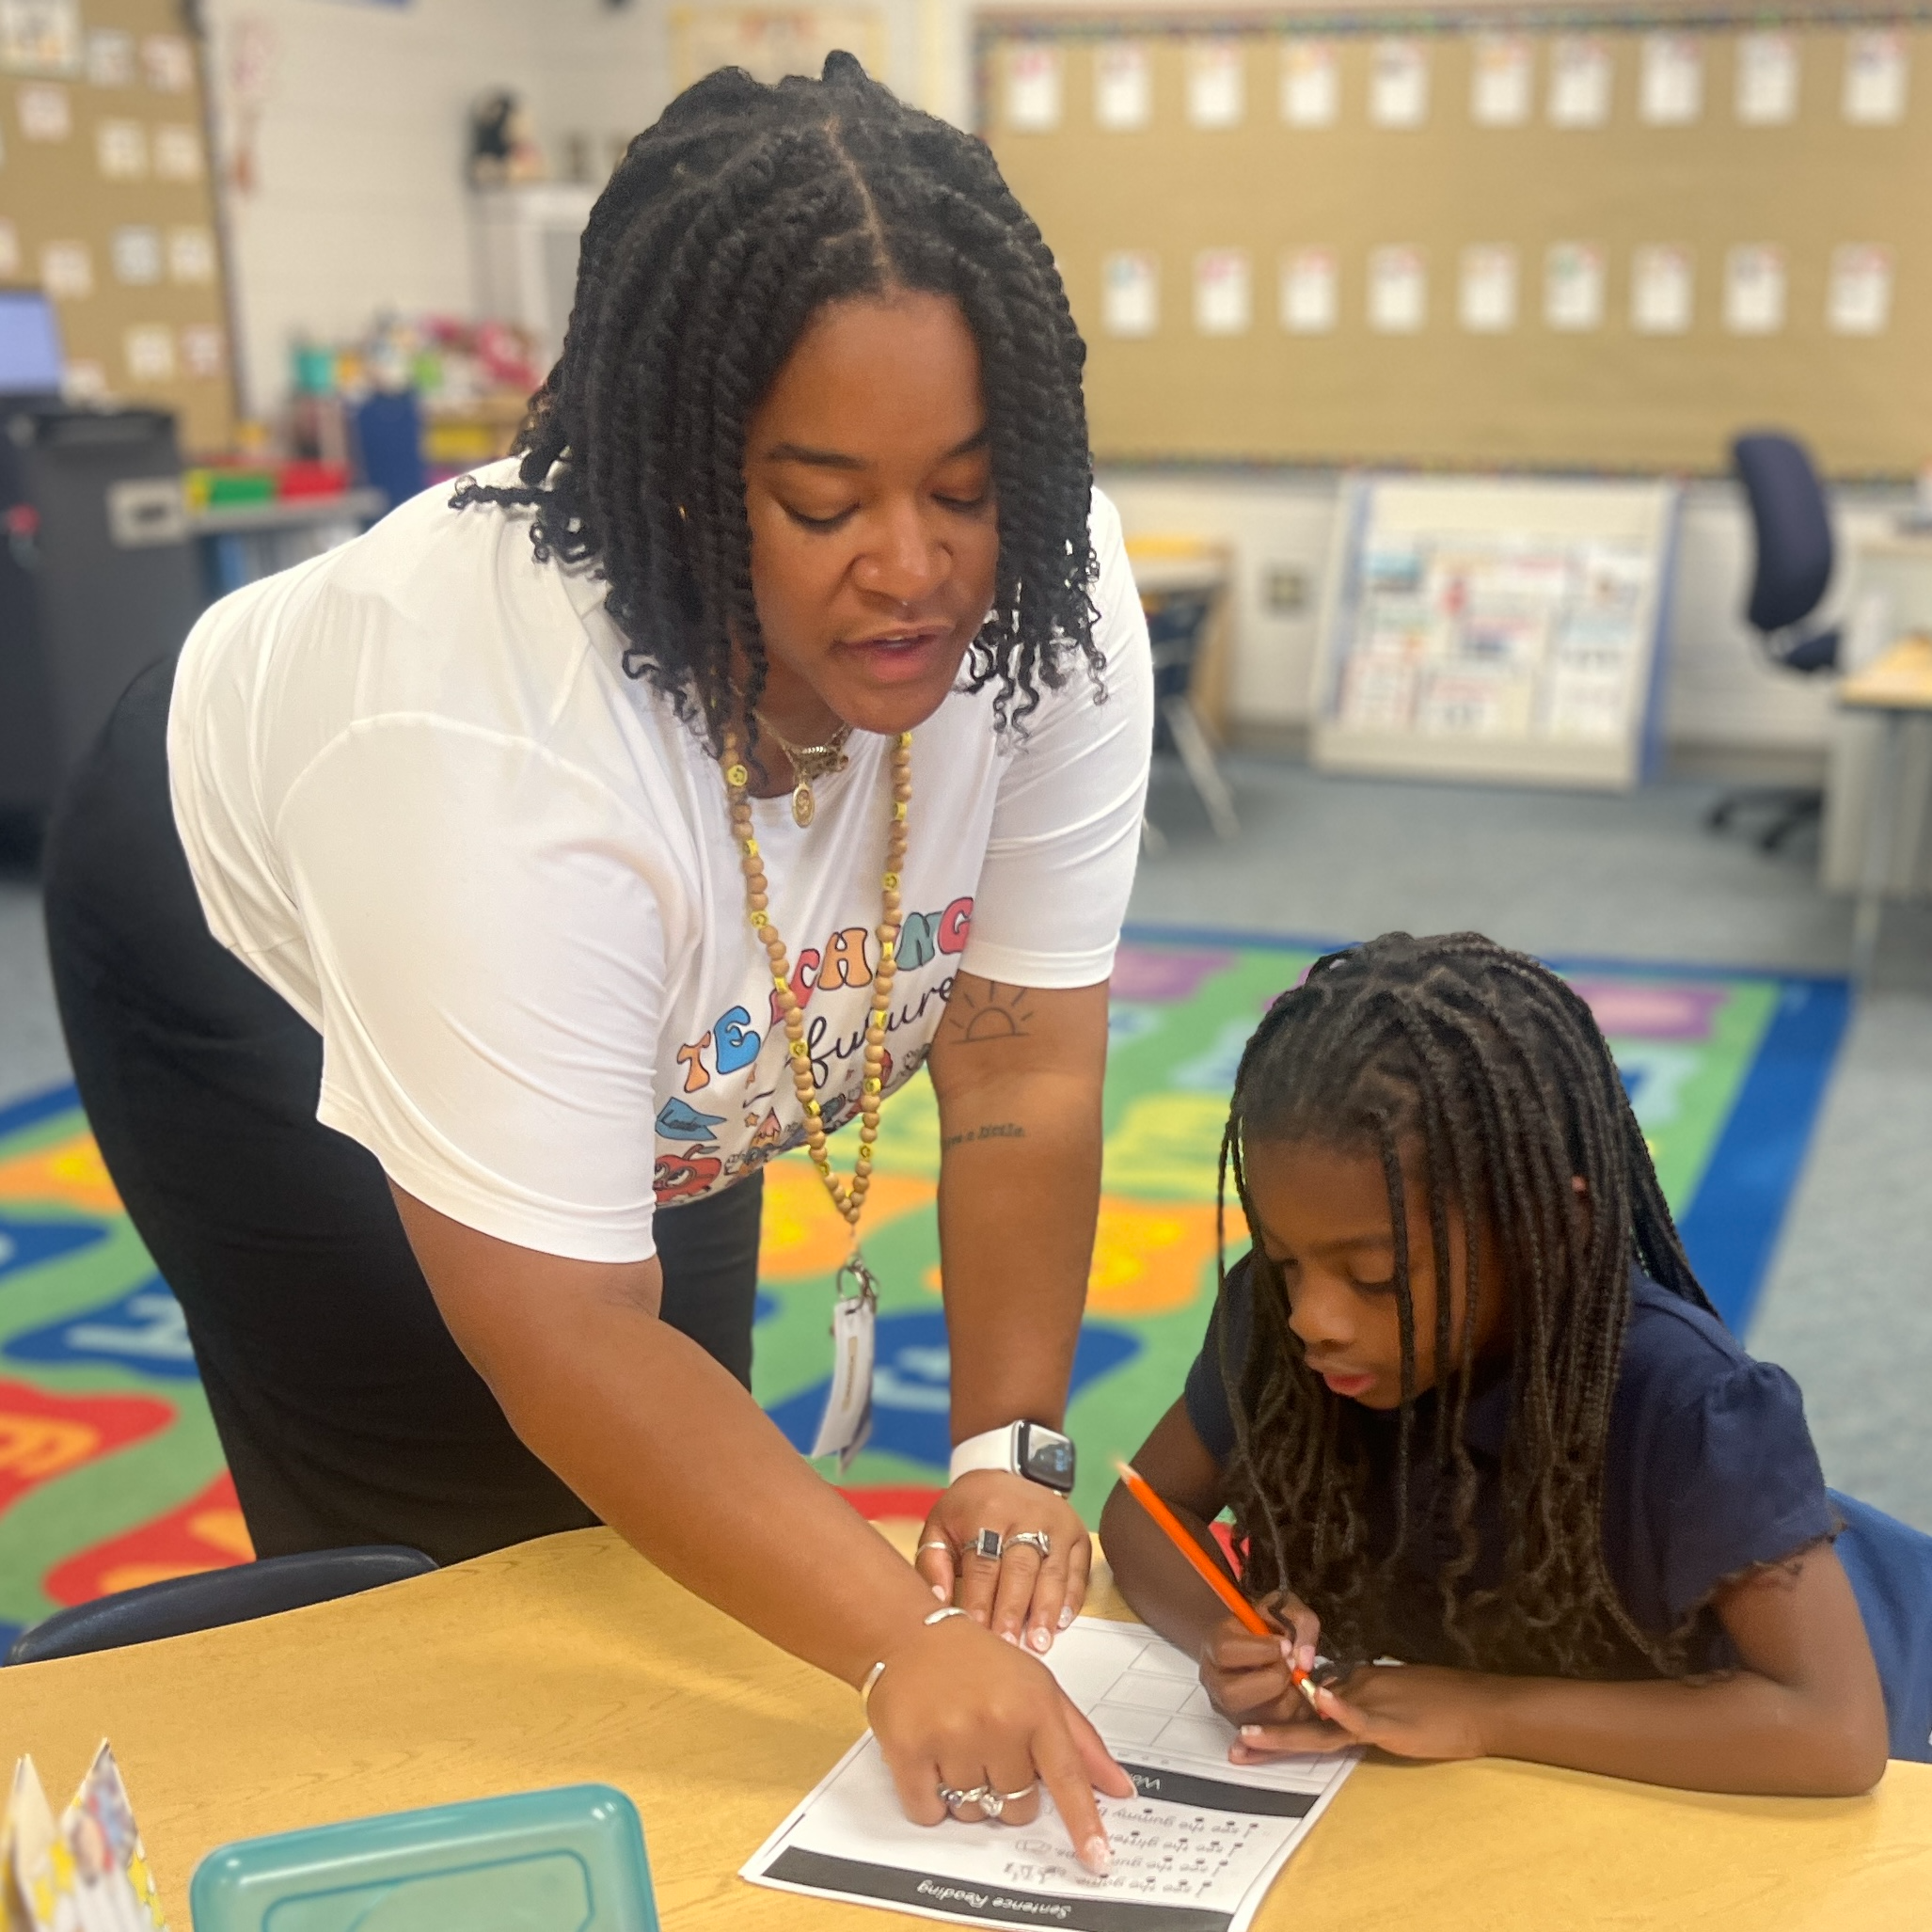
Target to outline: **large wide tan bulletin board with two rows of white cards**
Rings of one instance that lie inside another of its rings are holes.
[[[1932,12],[987,17],[1103,460],[1932,460]]]

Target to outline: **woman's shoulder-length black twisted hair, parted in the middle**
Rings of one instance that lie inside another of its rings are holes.
[[[630,143],[591,209],[518,483],[466,479],[454,497],[531,510],[539,558],[593,560],[626,672],[713,750],[765,686],[746,419],[825,303],[895,290],[954,298],[980,348],[999,570],[968,688],[997,686],[1001,728],[1076,657],[1099,696],[1086,344],[1039,230],[985,143],[904,106],[850,54],[777,87],[723,68]]]

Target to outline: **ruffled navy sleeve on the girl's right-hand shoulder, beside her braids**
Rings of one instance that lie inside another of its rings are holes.
[[[1797,1383],[1741,1358],[1658,1416],[1644,1457],[1669,1627],[1727,1578],[1832,1536],[1837,1517]]]

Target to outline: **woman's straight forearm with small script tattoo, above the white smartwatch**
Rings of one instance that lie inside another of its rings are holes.
[[[1016,1420],[1059,1428],[1099,1211],[1097,1082],[943,1094],[939,1124],[952,1437]]]

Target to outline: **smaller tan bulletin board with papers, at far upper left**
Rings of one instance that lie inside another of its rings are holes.
[[[54,301],[75,396],[234,423],[195,41],[178,0],[0,0],[0,284]]]

